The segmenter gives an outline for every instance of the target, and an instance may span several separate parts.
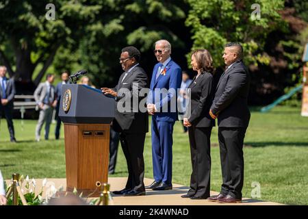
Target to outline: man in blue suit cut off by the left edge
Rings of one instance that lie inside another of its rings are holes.
[[[13,101],[16,93],[14,79],[5,77],[6,67],[0,66],[0,118],[4,114],[6,122],[8,123],[8,130],[10,132],[11,142],[16,142],[13,124]]]

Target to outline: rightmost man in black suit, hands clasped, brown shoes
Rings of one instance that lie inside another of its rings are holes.
[[[244,183],[243,144],[251,117],[247,99],[250,75],[242,62],[243,48],[240,43],[225,45],[224,64],[227,69],[218,81],[216,94],[209,114],[218,118],[218,141],[222,169],[220,194],[208,198],[220,203],[242,201]]]

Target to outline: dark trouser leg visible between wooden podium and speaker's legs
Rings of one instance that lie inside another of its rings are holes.
[[[118,142],[120,141],[120,133],[114,131],[110,127],[110,153],[109,153],[109,168],[108,172],[110,174],[114,173],[116,170],[116,157],[118,155]]]

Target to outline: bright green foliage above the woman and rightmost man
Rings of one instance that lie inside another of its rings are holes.
[[[271,31],[286,28],[278,13],[283,9],[283,0],[188,0],[188,3],[192,9],[185,23],[192,27],[192,50],[208,49],[216,66],[223,66],[221,56],[227,42],[243,44],[246,63],[268,64],[268,55],[262,53],[265,39]],[[251,19],[253,3],[261,6],[260,20]]]

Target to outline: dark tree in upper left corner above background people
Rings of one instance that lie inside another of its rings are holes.
[[[93,21],[94,14],[101,8],[57,0],[53,1],[55,20],[48,20],[45,16],[48,3],[30,0],[0,3],[0,60],[8,68],[10,77],[17,81],[31,82],[34,70],[41,64],[34,79],[37,85],[53,63],[57,49],[78,40],[84,34],[84,25]],[[14,60],[5,51],[12,51]]]

